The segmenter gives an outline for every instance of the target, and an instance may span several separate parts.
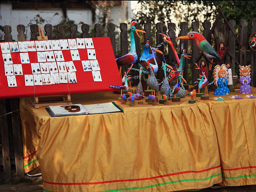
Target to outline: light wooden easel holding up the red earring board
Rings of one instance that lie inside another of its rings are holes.
[[[38,26],[39,36],[37,40],[48,40],[48,36],[44,36],[42,26]],[[29,98],[34,108],[46,107],[49,105],[72,105],[70,94],[62,95],[43,95]]]

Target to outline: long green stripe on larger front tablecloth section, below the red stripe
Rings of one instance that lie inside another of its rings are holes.
[[[135,190],[135,189],[146,189],[146,188],[157,187],[157,186],[160,186],[160,185],[180,183],[180,182],[184,182],[184,181],[204,181],[204,180],[208,180],[208,179],[211,179],[212,177],[217,177],[217,176],[220,176],[220,175],[221,175],[221,173],[216,174],[216,175],[212,175],[210,177],[203,178],[203,179],[184,179],[184,180],[170,181],[170,182],[166,182],[166,183],[158,183],[156,185],[150,185],[150,186],[145,186],[145,187],[121,188],[121,189],[111,189],[111,190],[106,190],[106,191],[93,191],[93,192],[113,192],[113,191],[128,191],[128,190]]]

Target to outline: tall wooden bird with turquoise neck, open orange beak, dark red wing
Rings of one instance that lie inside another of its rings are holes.
[[[136,22],[135,19],[133,19],[131,21],[131,48],[130,48],[130,52],[123,55],[122,57],[116,58],[117,66],[120,66],[119,73],[120,73],[121,78],[122,78],[122,66],[131,65],[132,63],[135,63],[138,60],[133,33],[136,32],[136,34],[139,38],[141,38],[141,37],[140,37],[138,32],[146,33],[143,30],[136,29],[135,26],[134,26],[135,22]]]

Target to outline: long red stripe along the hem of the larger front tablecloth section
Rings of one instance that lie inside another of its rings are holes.
[[[151,179],[156,179],[156,178],[162,178],[162,177],[168,177],[168,176],[173,176],[173,175],[179,175],[179,174],[184,174],[184,173],[201,173],[201,172],[206,172],[212,169],[219,168],[220,165],[211,167],[208,169],[203,169],[200,171],[183,171],[183,172],[176,172],[176,173],[169,173],[165,175],[158,175],[155,177],[146,177],[146,178],[138,178],[138,179],[122,179],[122,180],[110,180],[110,181],[99,181],[99,182],[86,182],[86,183],[57,183],[57,182],[49,182],[49,181],[44,181],[44,183],[47,184],[52,184],[52,185],[94,185],[94,184],[103,184],[103,183],[115,183],[115,182],[126,182],[126,181],[140,181],[140,180],[151,180]]]

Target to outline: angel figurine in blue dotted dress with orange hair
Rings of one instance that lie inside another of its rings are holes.
[[[214,92],[214,95],[227,95],[229,94],[228,89],[228,68],[227,65],[222,64],[216,65],[213,70],[213,78],[214,84],[216,85],[217,89]]]

